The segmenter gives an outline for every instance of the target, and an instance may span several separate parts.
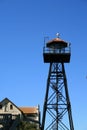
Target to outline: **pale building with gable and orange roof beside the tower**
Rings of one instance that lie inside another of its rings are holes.
[[[40,125],[39,105],[34,107],[18,107],[8,98],[0,102],[0,130],[16,130],[20,122]],[[19,129],[17,129],[19,130]]]

